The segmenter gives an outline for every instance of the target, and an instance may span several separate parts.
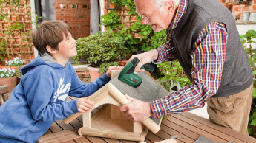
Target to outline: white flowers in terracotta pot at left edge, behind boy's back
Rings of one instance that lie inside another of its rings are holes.
[[[7,85],[9,93],[13,91],[18,83],[15,69],[0,69],[0,86]]]

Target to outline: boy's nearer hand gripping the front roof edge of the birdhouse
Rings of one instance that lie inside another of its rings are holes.
[[[85,113],[93,108],[93,105],[95,105],[94,102],[87,100],[88,97],[79,98],[77,101],[77,108],[78,111],[81,113]]]

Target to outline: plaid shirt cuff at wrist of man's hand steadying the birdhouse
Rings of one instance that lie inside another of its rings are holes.
[[[167,115],[168,111],[165,105],[164,100],[161,98],[159,100],[154,100],[150,102],[152,112],[156,119],[160,118],[163,115]]]

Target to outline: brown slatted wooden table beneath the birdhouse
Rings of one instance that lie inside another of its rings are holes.
[[[69,97],[69,100],[72,100]],[[92,111],[95,114],[99,108]],[[94,136],[79,136],[77,130],[82,127],[82,116],[65,124],[62,120],[53,122],[50,129],[47,130],[38,142],[124,142],[132,143],[120,139],[99,138]],[[145,142],[159,142],[164,139],[170,139],[171,136],[177,136],[177,142],[194,142],[197,138],[203,135],[215,142],[256,142],[255,138],[238,133],[229,128],[224,128],[210,122],[195,114],[184,112],[182,114],[173,114],[171,116],[163,116],[161,130],[157,133],[148,132]]]

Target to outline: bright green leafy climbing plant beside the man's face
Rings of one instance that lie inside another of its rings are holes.
[[[108,30],[113,30],[116,33],[116,36],[125,40],[125,46],[128,47],[126,51],[128,53],[156,49],[166,42],[166,30],[154,32],[148,24],[141,24],[141,18],[136,13],[134,0],[111,1],[117,5],[117,8],[116,10],[110,10],[105,15],[102,15],[101,25],[104,25]],[[126,10],[128,10],[128,15],[126,15],[125,12],[125,16],[118,14],[120,11]],[[126,27],[121,19],[133,16],[136,16],[138,21],[134,22],[131,27]],[[136,34],[140,35],[140,38],[134,36]]]

